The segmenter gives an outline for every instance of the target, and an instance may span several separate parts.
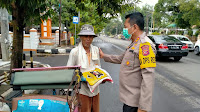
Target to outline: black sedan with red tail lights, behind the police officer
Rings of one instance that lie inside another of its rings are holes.
[[[188,45],[174,37],[164,35],[150,35],[148,37],[156,45],[157,58],[173,57],[174,61],[179,61],[183,56],[188,55]]]

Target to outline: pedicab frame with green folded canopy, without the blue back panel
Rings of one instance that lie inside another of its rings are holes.
[[[31,95],[13,98],[12,110],[17,109],[16,104],[20,99],[44,98],[66,101],[69,105],[70,112],[77,112],[78,107],[81,106],[79,100],[81,75],[80,66],[13,69],[11,85],[14,90],[60,89],[61,94],[59,94],[60,96]],[[66,95],[66,97],[63,98],[63,95]]]

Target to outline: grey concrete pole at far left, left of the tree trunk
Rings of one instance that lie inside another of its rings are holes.
[[[0,9],[1,11],[1,49],[2,49],[2,60],[9,60],[9,25],[8,25],[8,11],[4,9]]]

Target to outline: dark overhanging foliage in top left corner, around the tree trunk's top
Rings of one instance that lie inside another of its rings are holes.
[[[41,19],[47,19],[53,13],[48,0],[1,0],[0,7],[6,8],[11,14],[15,8],[22,9],[24,26],[40,24]]]

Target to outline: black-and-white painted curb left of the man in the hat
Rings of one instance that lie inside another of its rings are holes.
[[[67,54],[71,49],[37,49],[37,53]]]

